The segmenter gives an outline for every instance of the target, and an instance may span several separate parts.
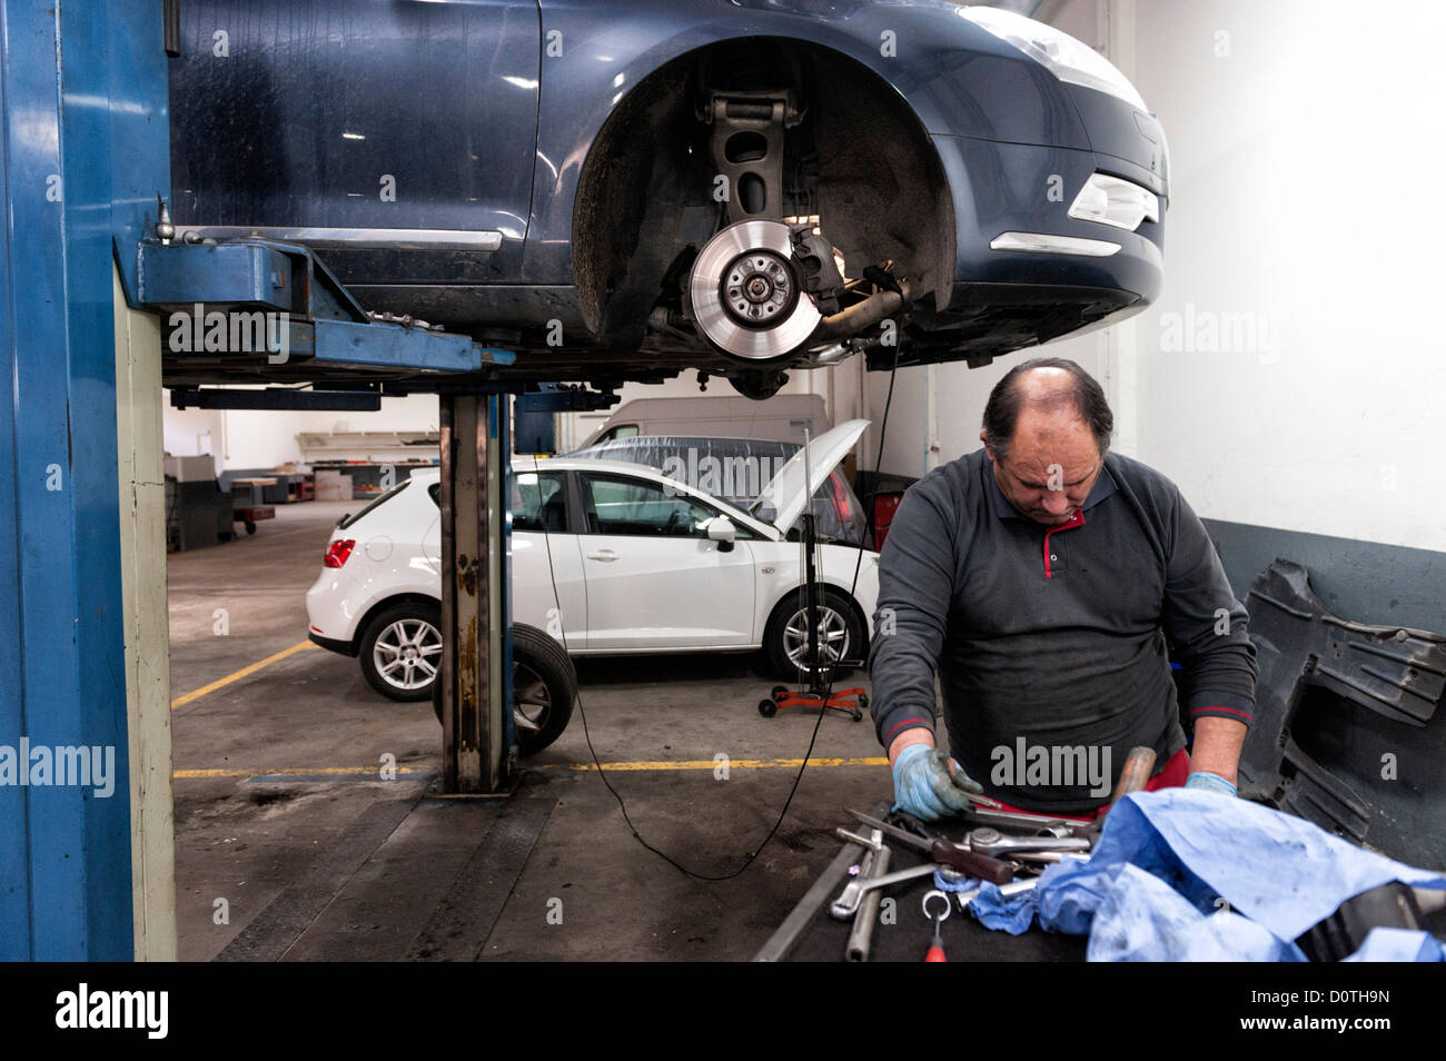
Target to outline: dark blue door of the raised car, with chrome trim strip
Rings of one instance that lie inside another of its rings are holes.
[[[304,231],[344,283],[516,280],[539,35],[536,0],[187,0],[169,66],[176,224]],[[500,244],[405,249],[398,230]]]

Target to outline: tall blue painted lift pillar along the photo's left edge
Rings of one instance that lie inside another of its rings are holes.
[[[6,960],[133,955],[111,267],[169,194],[161,10],[0,0]]]

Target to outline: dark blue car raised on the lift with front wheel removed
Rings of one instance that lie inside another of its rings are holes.
[[[857,353],[982,364],[1161,288],[1160,123],[1093,49],[1006,10],[188,0],[182,19],[182,237],[305,243],[367,309],[518,350],[529,379],[704,369],[766,396]]]

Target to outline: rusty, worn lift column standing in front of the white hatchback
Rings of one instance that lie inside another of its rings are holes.
[[[442,785],[495,792],[512,744],[506,671],[506,398],[441,395]]]

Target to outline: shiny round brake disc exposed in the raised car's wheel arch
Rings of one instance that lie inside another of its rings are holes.
[[[739,221],[703,247],[688,293],[698,331],[726,354],[771,361],[798,350],[821,314],[801,291],[782,221]]]

